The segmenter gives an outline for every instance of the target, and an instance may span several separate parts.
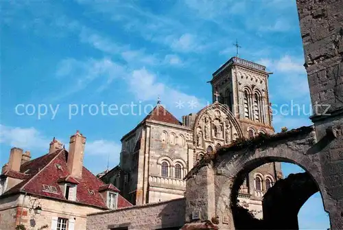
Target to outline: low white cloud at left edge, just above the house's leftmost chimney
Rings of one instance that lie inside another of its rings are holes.
[[[49,140],[33,127],[21,128],[0,124],[0,143],[23,148],[24,151],[49,149]]]

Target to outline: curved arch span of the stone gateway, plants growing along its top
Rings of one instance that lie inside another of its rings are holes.
[[[217,216],[220,218],[227,216],[233,222],[232,207],[237,204],[239,187],[243,184],[246,174],[265,163],[275,161],[294,163],[303,168],[316,183],[322,195],[324,209],[329,211],[328,207],[331,207],[335,201],[326,194],[322,171],[318,170],[320,158],[316,155],[323,148],[323,143],[316,143],[312,127],[303,127],[303,133],[299,130],[297,130],[298,134],[284,137],[282,141],[269,141],[259,148],[217,152],[213,165],[214,172],[217,172],[214,181]],[[224,229],[235,229],[233,224],[224,225],[221,222],[220,225]]]

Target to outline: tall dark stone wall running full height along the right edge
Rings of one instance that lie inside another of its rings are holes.
[[[324,146],[319,154],[324,209],[330,213],[331,229],[343,229],[343,3],[296,3],[314,107],[311,120]]]

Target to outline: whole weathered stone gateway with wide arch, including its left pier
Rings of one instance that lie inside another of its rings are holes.
[[[335,141],[339,141],[340,135],[337,133],[340,134],[340,129],[329,129],[327,135],[318,141],[314,127],[302,127],[287,133],[271,136],[262,135],[252,140],[234,143],[227,148],[220,149],[212,157],[208,156],[186,176],[186,222],[194,221],[193,216],[196,215],[200,216],[200,221],[211,220],[215,222],[220,229],[237,228],[239,218],[244,218],[242,212],[235,210],[239,187],[244,182],[244,175],[265,163],[273,161],[299,165],[313,180],[311,183],[316,186],[311,191],[305,188],[303,190],[298,189],[303,193],[298,194],[298,197],[302,197],[303,200],[300,205],[298,200],[293,200],[294,204],[289,201],[289,207],[292,205],[297,207],[294,209],[295,213],[289,213],[289,216],[297,216],[297,212],[303,203],[316,191],[320,191],[322,194],[324,209],[329,214],[337,215],[335,210],[336,205],[338,205],[337,200],[332,198],[326,189],[327,185],[334,183],[335,179],[323,181],[324,171],[321,169],[322,161],[329,161],[323,150]],[[296,181],[292,183],[296,183]],[[305,183],[304,186],[306,186]],[[285,193],[289,192],[289,189],[283,189]],[[287,195],[285,194],[285,197]],[[268,197],[268,194],[265,196]],[[269,202],[271,201],[269,200]],[[268,211],[264,211],[265,208],[270,210],[272,208],[263,204],[263,218],[267,220],[268,216],[265,215],[268,215]],[[252,223],[251,227],[258,229],[255,224]],[[282,229],[283,223],[280,222],[279,224],[279,228]],[[262,225],[261,228],[264,227],[265,229],[265,225]],[[297,225],[297,220],[294,225]]]

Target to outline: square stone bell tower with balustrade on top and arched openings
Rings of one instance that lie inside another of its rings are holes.
[[[213,73],[213,102],[218,100],[228,106],[236,119],[250,135],[259,131],[273,133],[268,94],[269,74],[263,65],[242,58],[230,58]],[[219,94],[219,95],[218,95]]]

